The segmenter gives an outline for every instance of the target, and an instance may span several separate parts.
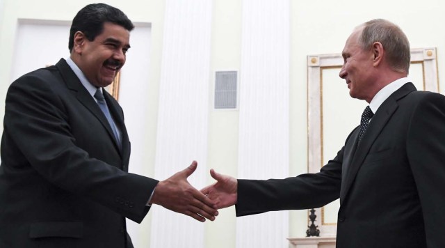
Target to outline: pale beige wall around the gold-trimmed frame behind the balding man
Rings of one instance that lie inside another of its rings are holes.
[[[445,72],[445,32],[435,29],[445,21],[444,8],[445,3],[437,0],[291,1],[291,175],[307,170],[307,140],[302,139],[307,136],[306,55],[339,53],[355,26],[385,18],[401,26],[412,48],[437,47],[439,91],[444,93],[440,76]],[[305,214],[291,211],[291,236],[304,236]]]

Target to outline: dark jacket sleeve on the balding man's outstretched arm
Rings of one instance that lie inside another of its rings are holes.
[[[344,147],[318,173],[269,180],[238,180],[236,216],[320,208],[340,196]]]

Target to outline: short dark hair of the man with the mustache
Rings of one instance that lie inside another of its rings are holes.
[[[104,23],[118,24],[124,29],[134,29],[133,23],[122,10],[105,3],[92,3],[83,7],[72,20],[68,49],[70,52],[74,46],[74,33],[81,31],[90,41],[104,31]]]

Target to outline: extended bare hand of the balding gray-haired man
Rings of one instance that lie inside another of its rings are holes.
[[[217,173],[213,169],[210,170],[210,175],[218,182],[201,189],[202,194],[207,195],[215,203],[216,209],[234,206],[238,201],[238,180]]]

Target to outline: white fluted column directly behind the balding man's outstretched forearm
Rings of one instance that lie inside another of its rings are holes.
[[[289,174],[289,0],[243,0],[238,178]],[[288,212],[237,219],[236,247],[288,247]]]

